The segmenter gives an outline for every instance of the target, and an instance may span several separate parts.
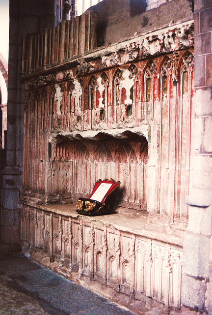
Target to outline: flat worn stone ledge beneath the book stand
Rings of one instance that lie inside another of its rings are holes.
[[[148,221],[148,214],[144,212],[137,217],[129,217],[123,213],[116,213],[105,216],[87,217],[79,215],[76,212],[74,204],[54,204],[54,205],[32,205],[24,203],[24,205],[33,206],[40,210],[52,212],[53,214],[71,217],[83,222],[103,225],[123,232],[130,232],[143,237],[170,243],[173,245],[183,246],[184,230],[177,229],[173,224],[164,222],[164,218],[157,216],[156,222]]]

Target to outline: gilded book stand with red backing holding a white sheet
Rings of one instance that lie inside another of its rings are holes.
[[[99,216],[110,212],[109,195],[116,190],[120,182],[113,179],[99,179],[94,185],[94,189],[89,198],[79,198],[76,206],[77,212],[85,216]]]

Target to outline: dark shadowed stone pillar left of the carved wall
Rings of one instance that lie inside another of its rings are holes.
[[[10,0],[7,153],[0,213],[0,240],[4,243],[19,243],[25,103],[25,86],[20,81],[23,38],[27,33],[38,34],[55,27],[55,1]]]

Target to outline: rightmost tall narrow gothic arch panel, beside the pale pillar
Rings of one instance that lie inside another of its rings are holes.
[[[179,61],[178,78],[174,217],[187,218],[188,206],[185,205],[184,199],[189,191],[188,169],[190,168],[192,96],[194,93],[193,55],[189,51],[185,52]],[[184,152],[186,152],[186,155]]]

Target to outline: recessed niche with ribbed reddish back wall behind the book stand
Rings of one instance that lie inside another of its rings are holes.
[[[114,205],[145,210],[147,159],[147,140],[130,131],[119,139],[103,133],[93,139],[63,139],[52,157],[52,193],[88,197],[98,179],[113,178],[121,182]]]

